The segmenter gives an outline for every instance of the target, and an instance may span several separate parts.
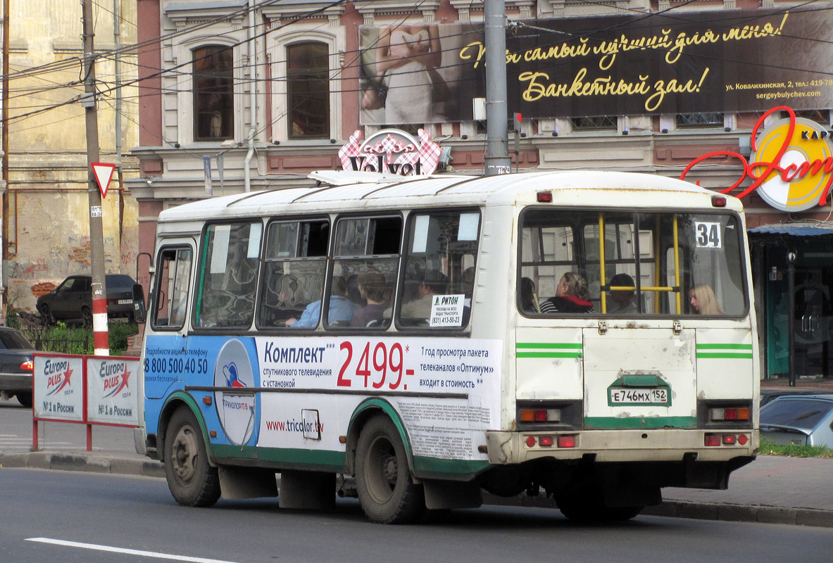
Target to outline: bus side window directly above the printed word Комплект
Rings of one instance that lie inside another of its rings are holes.
[[[329,238],[326,220],[269,224],[258,326],[317,328]]]

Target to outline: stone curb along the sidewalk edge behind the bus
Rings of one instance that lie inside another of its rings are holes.
[[[0,467],[86,471],[112,475],[134,475],[165,478],[165,467],[160,461],[134,458],[55,454],[41,451],[0,454]],[[547,496],[501,497],[483,492],[483,504],[493,506],[526,506],[557,509],[556,502]],[[788,524],[833,528],[833,511],[781,506],[733,505],[710,502],[662,501],[647,506],[644,516],[666,516],[726,522],[757,522],[760,524]]]

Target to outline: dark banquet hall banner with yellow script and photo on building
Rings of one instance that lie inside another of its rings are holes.
[[[833,104],[829,9],[713,10],[514,22],[507,109],[524,117],[765,111]],[[362,27],[362,124],[471,120],[482,24]]]

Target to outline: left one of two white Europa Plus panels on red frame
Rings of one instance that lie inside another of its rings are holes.
[[[84,420],[82,356],[33,354],[33,415],[59,421]]]

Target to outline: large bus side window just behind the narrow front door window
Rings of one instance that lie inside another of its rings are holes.
[[[196,326],[252,325],[261,232],[259,221],[207,226],[199,269]]]

